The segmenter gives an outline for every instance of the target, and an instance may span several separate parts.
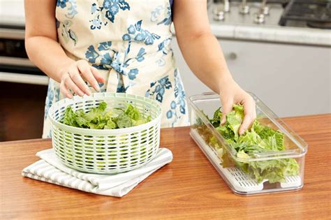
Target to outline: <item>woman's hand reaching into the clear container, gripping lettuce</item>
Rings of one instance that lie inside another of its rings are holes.
[[[255,101],[233,79],[223,82],[219,91],[223,108],[221,124],[226,123],[226,114],[232,110],[233,104],[244,105],[245,116],[239,129],[239,134],[242,135],[256,119]]]

